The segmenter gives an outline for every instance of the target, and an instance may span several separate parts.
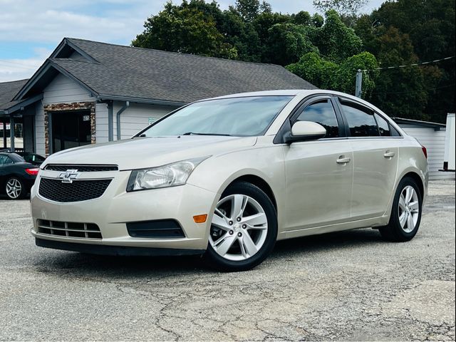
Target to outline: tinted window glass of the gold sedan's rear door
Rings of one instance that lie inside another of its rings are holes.
[[[377,123],[370,110],[351,103],[341,105],[352,137],[378,137]]]

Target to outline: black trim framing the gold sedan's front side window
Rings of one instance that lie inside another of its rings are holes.
[[[276,136],[274,137],[273,143],[274,144],[285,144],[284,142],[284,136],[286,133],[289,133],[291,131],[291,125],[296,122],[296,119],[298,116],[302,113],[302,110],[306,108],[308,105],[311,105],[312,103],[316,103],[321,100],[329,100],[331,105],[333,105],[333,110],[334,113],[336,114],[336,120],[338,123],[338,128],[339,128],[339,136],[337,138],[321,138],[318,139],[318,141],[321,140],[343,140],[347,139],[348,135],[346,132],[346,120],[343,118],[343,115],[341,115],[341,110],[338,108],[338,105],[336,104],[335,96],[331,94],[314,94],[314,95],[309,95],[306,98],[302,99],[301,102],[299,102],[293,110],[291,110],[291,113],[289,116],[284,120],[284,123],[282,123],[281,127],[276,133]],[[314,140],[312,140],[314,141]]]

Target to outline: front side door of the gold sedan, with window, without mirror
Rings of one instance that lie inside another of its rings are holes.
[[[311,100],[303,107],[291,125],[297,120],[319,123],[326,137],[284,145],[288,231],[336,224],[351,216],[353,152],[341,117],[331,98]]]

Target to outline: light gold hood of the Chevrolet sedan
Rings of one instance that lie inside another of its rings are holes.
[[[256,142],[256,137],[208,135],[135,138],[63,150],[50,155],[41,167],[48,164],[101,164],[118,165],[119,170],[140,169],[242,150]]]

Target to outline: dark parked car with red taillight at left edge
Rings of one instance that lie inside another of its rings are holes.
[[[9,199],[26,197],[39,168],[16,153],[0,152],[0,191]]]

